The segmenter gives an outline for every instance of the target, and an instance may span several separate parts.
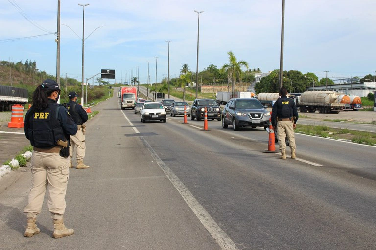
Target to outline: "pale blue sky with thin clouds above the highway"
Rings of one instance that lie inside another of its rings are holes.
[[[149,65],[150,82],[155,82],[157,60],[160,82],[168,73],[166,40],[171,40],[171,76],[178,76],[185,63],[196,71],[194,10],[204,11],[199,71],[210,64],[220,68],[228,62],[228,51],[250,68],[280,67],[282,0],[61,0],[62,77],[81,81],[79,3],[90,4],[85,7],[85,79],[115,69],[116,82],[133,75],[146,83]],[[45,34],[57,30],[57,5],[58,0],[0,0],[0,60],[36,61],[39,70],[56,75],[56,36]],[[375,74],[375,7],[376,0],[285,0],[283,70],[319,78],[326,76],[324,70],[330,78]],[[9,40],[26,37],[32,38]]]

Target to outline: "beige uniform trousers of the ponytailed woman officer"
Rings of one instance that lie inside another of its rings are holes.
[[[59,153],[33,151],[31,156],[32,185],[24,213],[40,214],[48,188],[48,209],[53,219],[63,218],[65,194],[69,178],[69,158]]]

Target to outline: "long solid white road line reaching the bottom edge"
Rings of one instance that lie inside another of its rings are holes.
[[[154,160],[157,162],[159,167],[164,171],[164,174],[170,180],[172,185],[178,190],[180,195],[186,201],[190,209],[200,220],[202,225],[209,231],[211,236],[214,238],[215,242],[219,245],[222,250],[239,250],[235,243],[230,239],[230,237],[218,226],[210,214],[201,206],[201,204],[194,198],[193,194],[188,190],[188,188],[180,181],[180,179],[172,172],[172,170],[164,163],[164,161],[159,158],[158,154],[154,149],[147,143],[143,136],[140,136],[141,141],[145,147],[149,150]]]

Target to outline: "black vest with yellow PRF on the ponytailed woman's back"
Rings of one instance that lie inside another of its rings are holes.
[[[27,129],[28,138],[32,146],[51,148],[57,146],[57,141],[67,141],[63,128],[58,120],[61,104],[50,104],[45,110],[31,110],[29,116],[30,127]]]

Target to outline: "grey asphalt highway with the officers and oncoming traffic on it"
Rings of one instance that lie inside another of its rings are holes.
[[[280,160],[261,128],[143,124],[116,97],[92,110],[91,167],[67,191],[75,234],[52,239],[44,204],[41,234],[22,237],[26,171],[0,193],[1,249],[375,249],[375,147],[296,134],[298,158]]]

